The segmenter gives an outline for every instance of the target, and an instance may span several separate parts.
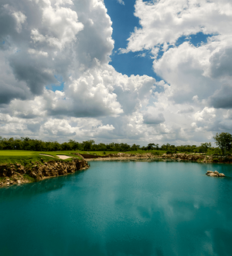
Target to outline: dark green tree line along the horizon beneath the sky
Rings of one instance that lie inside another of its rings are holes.
[[[230,133],[217,133],[213,137],[215,143],[219,147],[212,147],[211,143],[200,144],[199,147],[196,145],[181,145],[175,146],[169,143],[153,144],[150,143],[146,147],[133,144],[95,144],[94,140],[86,140],[77,142],[76,140],[69,140],[60,144],[57,141],[43,141],[33,140],[29,137],[21,138],[2,138],[0,137],[0,150],[33,150],[33,151],[58,151],[58,150],[83,150],[83,151],[134,151],[134,150],[165,150],[168,154],[174,154],[176,152],[186,153],[207,153],[207,154],[230,154],[232,135]]]

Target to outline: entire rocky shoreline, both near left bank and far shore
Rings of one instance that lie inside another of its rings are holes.
[[[75,154],[75,153],[74,153]],[[232,163],[232,156],[208,156],[206,154],[79,154],[83,159],[73,158],[72,161],[50,160],[47,162],[36,161],[23,166],[22,164],[0,165],[0,187],[19,185],[29,182],[39,182],[46,178],[68,175],[75,171],[89,168],[87,161],[196,161],[200,163]]]

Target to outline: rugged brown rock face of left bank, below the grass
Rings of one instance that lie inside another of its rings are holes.
[[[0,187],[39,182],[46,178],[68,175],[89,168],[84,159],[73,158],[73,161],[36,161],[27,166],[22,164],[0,165]]]

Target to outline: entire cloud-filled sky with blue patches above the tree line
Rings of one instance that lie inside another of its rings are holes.
[[[0,0],[0,136],[213,142],[231,27],[230,0]]]

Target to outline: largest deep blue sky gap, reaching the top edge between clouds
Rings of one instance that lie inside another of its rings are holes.
[[[113,22],[114,52],[111,55],[111,65],[121,74],[147,74],[153,78],[158,78],[152,70],[152,56],[149,51],[130,52],[128,54],[120,54],[120,48],[126,48],[128,38],[134,32],[135,26],[139,25],[139,19],[134,16],[135,0],[125,0],[125,5],[121,5],[116,0],[104,0],[107,13]],[[145,57],[139,55],[145,53]],[[159,78],[158,78],[159,79]]]

